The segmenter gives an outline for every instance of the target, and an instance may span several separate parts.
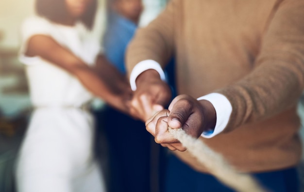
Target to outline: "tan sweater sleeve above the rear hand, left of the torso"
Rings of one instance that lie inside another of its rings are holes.
[[[137,63],[154,60],[162,68],[168,63],[174,49],[174,10],[180,0],[171,0],[167,8],[147,27],[137,30],[126,53],[126,68],[130,76]]]

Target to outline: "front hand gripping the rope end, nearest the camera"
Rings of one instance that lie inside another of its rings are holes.
[[[177,96],[169,105],[146,121],[146,129],[154,136],[155,142],[170,150],[185,151],[186,148],[168,131],[182,128],[187,134],[198,138],[204,130],[214,128],[216,111],[206,101],[197,101],[188,95]]]

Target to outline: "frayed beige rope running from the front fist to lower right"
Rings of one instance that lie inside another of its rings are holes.
[[[190,154],[202,163],[211,174],[227,186],[235,189],[237,192],[266,192],[251,175],[237,172],[219,153],[213,151],[204,144],[203,141],[191,137],[181,128],[172,129],[169,127],[168,131],[178,139]]]

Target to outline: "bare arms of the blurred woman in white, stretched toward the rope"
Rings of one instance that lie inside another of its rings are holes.
[[[68,49],[62,47],[50,36],[34,35],[30,38],[27,47],[27,56],[39,56],[76,76],[86,89],[106,103],[118,110],[128,113],[127,101],[131,97],[131,89],[126,81],[118,75],[105,59],[99,57],[96,67],[91,68],[83,60],[76,57]],[[97,70],[102,69],[102,70]],[[101,71],[103,71],[101,73]],[[114,84],[109,84],[110,79],[101,78],[100,74],[108,74],[115,79]]]

